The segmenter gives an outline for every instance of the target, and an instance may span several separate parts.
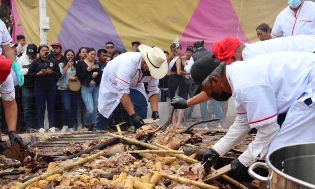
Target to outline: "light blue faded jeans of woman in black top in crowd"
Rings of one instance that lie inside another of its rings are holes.
[[[85,105],[85,125],[90,126],[96,121],[99,86],[96,84],[81,87],[81,95]]]

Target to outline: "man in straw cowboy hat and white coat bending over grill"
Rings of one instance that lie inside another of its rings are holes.
[[[121,103],[131,119],[131,125],[139,128],[147,116],[147,99],[144,82],[148,83],[148,99],[152,118],[158,114],[158,84],[168,70],[162,49],[139,45],[140,52],[127,52],[110,61],[104,69],[98,98],[96,130],[108,129],[109,117]]]

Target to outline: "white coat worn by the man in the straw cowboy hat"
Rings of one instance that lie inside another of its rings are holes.
[[[140,91],[146,97],[143,83],[148,82],[148,98],[159,92],[159,80],[142,74],[141,60],[140,52],[126,52],[104,68],[98,97],[98,111],[104,117],[110,117],[123,94],[130,93],[130,88]]]

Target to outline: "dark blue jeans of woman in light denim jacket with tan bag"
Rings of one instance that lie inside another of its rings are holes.
[[[69,89],[61,90],[61,102],[63,108],[63,119],[65,125],[73,128],[73,122],[76,120],[76,110],[78,108],[78,93],[72,92]]]

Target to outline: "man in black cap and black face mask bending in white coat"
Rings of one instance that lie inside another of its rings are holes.
[[[315,141],[314,53],[268,53],[231,65],[207,56],[191,67],[191,77],[197,84],[195,94],[204,91],[218,101],[235,97],[237,117],[227,134],[204,153],[207,166],[216,164],[252,128],[258,130],[255,140],[231,162],[233,174],[245,173],[268,151]],[[277,116],[284,112],[280,129]]]

